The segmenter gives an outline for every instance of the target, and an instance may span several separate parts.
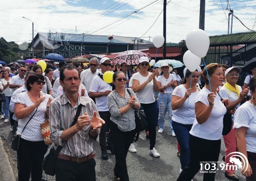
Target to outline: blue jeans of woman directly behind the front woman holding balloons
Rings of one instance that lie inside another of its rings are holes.
[[[180,164],[183,170],[190,162],[190,130],[193,124],[181,124],[173,121],[173,130],[180,145]]]

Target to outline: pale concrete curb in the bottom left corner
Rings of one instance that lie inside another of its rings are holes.
[[[2,181],[15,180],[13,173],[13,168],[11,167],[10,161],[8,159],[7,153],[3,147],[3,141],[0,137],[0,178]]]

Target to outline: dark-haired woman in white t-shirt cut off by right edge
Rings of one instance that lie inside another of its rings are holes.
[[[252,98],[242,104],[234,115],[234,128],[239,152],[248,159],[242,174],[246,181],[256,180],[256,77],[249,81]]]

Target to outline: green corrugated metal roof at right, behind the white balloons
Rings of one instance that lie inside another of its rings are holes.
[[[241,45],[256,43],[256,32],[242,32],[225,35],[209,36],[210,46]],[[186,47],[185,40],[179,43],[180,47]]]

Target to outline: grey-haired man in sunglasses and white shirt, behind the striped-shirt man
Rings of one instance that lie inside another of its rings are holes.
[[[86,90],[90,90],[90,85],[92,84],[93,78],[97,76],[99,71],[97,71],[97,67],[99,66],[99,60],[96,57],[90,59],[90,68],[81,72],[81,83],[86,87]],[[93,98],[95,102],[95,98]]]

